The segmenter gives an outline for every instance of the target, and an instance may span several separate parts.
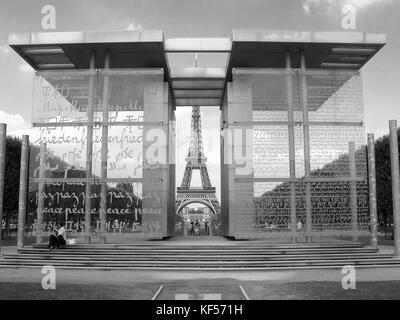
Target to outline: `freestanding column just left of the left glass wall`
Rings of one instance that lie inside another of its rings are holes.
[[[17,245],[22,248],[25,242],[26,199],[28,195],[29,136],[22,136],[21,168],[19,173],[18,234]]]

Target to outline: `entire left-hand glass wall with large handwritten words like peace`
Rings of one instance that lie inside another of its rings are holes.
[[[90,144],[92,170],[87,172],[88,132],[92,128],[86,114],[90,100],[89,82],[90,87],[93,86],[94,126]],[[27,219],[30,235],[40,230],[38,213],[43,212],[45,233],[42,235],[47,236],[53,225],[65,223],[67,237],[82,242],[87,236],[84,219],[85,211],[89,209],[86,207],[88,198],[91,203],[90,235],[96,242],[100,235],[103,187],[108,241],[118,242],[118,237],[140,235],[162,237],[170,206],[167,201],[169,181],[163,180],[166,162],[150,167],[145,165],[144,126],[134,124],[144,121],[146,115],[147,121],[155,119],[147,131],[154,129],[159,133],[160,128],[164,130],[159,119],[166,115],[168,121],[168,105],[164,104],[162,71],[40,72],[34,85],[33,123],[61,122],[63,125],[43,126],[42,123],[42,127],[32,134]],[[108,94],[103,95],[103,92]],[[111,123],[105,127],[96,123],[103,120],[103,98],[107,99],[107,120],[115,125]],[[77,123],[73,126],[64,124],[71,121]],[[104,128],[108,129],[108,182],[101,181]],[[156,148],[156,154],[167,152],[168,136],[164,138]],[[41,143],[46,147],[42,148],[43,152],[40,151]],[[163,158],[168,160],[166,155]]]

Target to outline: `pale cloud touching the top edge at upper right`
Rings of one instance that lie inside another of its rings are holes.
[[[303,0],[303,11],[306,14],[312,12],[333,13],[339,11],[344,5],[353,5],[356,9],[363,9],[371,5],[385,5],[394,0]]]

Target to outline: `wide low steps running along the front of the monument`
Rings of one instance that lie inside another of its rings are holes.
[[[0,267],[137,270],[282,270],[400,267],[400,259],[361,243],[177,245],[167,242],[74,245],[49,251],[45,244],[4,255]]]

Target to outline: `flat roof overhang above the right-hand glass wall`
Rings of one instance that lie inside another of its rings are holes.
[[[308,69],[360,70],[385,44],[383,33],[234,30],[228,71],[285,68],[288,51],[292,68],[304,52]]]

